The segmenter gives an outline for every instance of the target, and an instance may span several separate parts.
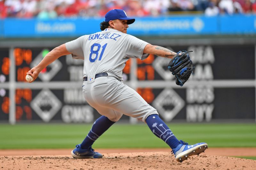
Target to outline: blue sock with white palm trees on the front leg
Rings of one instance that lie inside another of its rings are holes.
[[[168,128],[158,115],[149,115],[146,122],[149,129],[172,149],[175,149],[180,144],[180,141],[173,135],[170,128]]]

